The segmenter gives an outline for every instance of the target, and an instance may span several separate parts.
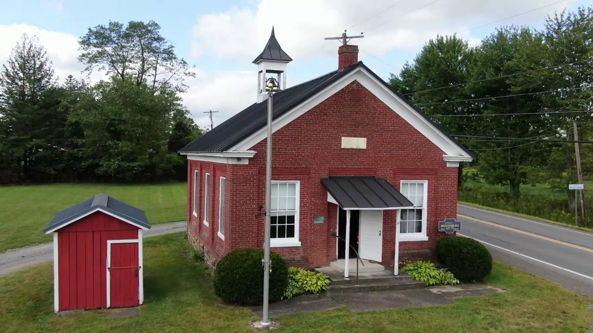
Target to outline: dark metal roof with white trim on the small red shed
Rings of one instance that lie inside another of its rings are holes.
[[[85,216],[85,214],[93,212],[95,209],[102,209],[120,219],[132,222],[141,228],[151,228],[148,219],[146,219],[144,210],[130,206],[114,197],[107,196],[107,194],[99,193],[92,198],[88,198],[81,203],[77,203],[74,206],[58,212],[58,214],[56,214],[56,216],[54,216],[43,229],[43,232],[62,228],[63,226],[80,219],[82,216]]]

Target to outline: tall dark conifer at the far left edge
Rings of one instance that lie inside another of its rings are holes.
[[[37,37],[21,37],[0,72],[4,181],[55,180],[63,171],[66,115],[51,62]],[[8,179],[9,178],[9,179]]]

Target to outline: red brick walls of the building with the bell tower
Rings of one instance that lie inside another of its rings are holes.
[[[341,138],[366,137],[367,149],[342,149]],[[327,191],[320,179],[329,175],[376,175],[399,187],[400,180],[428,180],[429,241],[401,242],[400,258],[431,250],[438,238],[438,221],[455,217],[457,212],[457,168],[447,167],[443,152],[410,124],[394,113],[358,82],[353,82],[317,107],[292,121],[273,135],[273,180],[299,180],[301,246],[273,248],[291,264],[304,267],[327,265],[336,257],[336,206],[327,203]],[[214,169],[212,188],[218,191],[218,177],[227,177],[229,219],[226,241],[216,236],[218,228],[218,194],[212,198],[211,227],[193,218],[190,179],[188,207],[190,232],[210,244],[215,257],[242,247],[263,245],[264,216],[256,218],[264,206],[266,142],[253,146],[257,151],[248,165],[223,165],[190,161],[193,169],[201,168],[200,202],[203,203],[203,172]],[[232,179],[231,179],[232,178]],[[314,216],[325,216],[326,223],[314,225]],[[393,263],[396,211],[386,211],[383,222],[383,261]],[[216,247],[218,246],[218,247]]]

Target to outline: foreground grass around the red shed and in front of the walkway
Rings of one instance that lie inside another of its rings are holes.
[[[52,266],[0,278],[0,327],[32,331],[250,332],[257,318],[224,305],[205,264],[181,250],[183,233],[145,240],[145,296],[140,316],[110,319],[106,310],[53,315]],[[457,299],[455,305],[354,313],[347,308],[284,316],[286,332],[587,332],[589,297],[495,262],[489,284],[505,293]]]

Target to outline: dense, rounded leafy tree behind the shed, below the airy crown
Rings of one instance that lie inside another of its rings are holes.
[[[142,181],[166,178],[183,164],[168,140],[173,117],[184,112],[173,88],[154,94],[147,84],[112,76],[85,88],[69,120],[81,124],[85,160],[98,177]]]

